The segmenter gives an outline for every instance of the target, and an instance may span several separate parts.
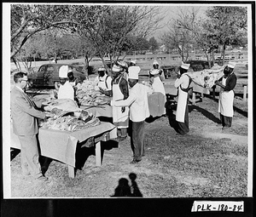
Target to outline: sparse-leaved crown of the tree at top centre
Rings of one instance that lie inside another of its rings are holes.
[[[73,7],[74,26],[80,36],[96,47],[97,54],[107,66],[119,59],[120,51],[135,48],[136,44],[158,27],[162,17],[159,8],[146,6],[86,6]]]

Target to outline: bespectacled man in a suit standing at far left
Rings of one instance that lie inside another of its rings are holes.
[[[38,153],[38,120],[46,117],[24,92],[27,76],[24,72],[14,75],[15,87],[10,94],[11,116],[14,133],[20,140],[21,168],[23,175],[31,174],[38,180],[48,180],[41,171]]]

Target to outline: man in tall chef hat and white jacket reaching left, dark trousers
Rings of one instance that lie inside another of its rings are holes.
[[[112,100],[111,106],[130,107],[131,120],[131,149],[133,160],[138,163],[144,155],[145,119],[149,117],[147,87],[138,83],[139,66],[131,66],[128,71],[128,83],[131,87],[129,97],[126,100]]]

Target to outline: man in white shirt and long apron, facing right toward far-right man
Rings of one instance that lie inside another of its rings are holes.
[[[189,70],[190,64],[183,63],[179,68],[177,80],[174,87],[178,89],[176,121],[177,128],[175,129],[178,134],[189,133],[189,84],[192,82],[191,78],[184,74]]]

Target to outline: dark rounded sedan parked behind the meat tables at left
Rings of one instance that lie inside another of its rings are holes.
[[[70,64],[44,64],[39,67],[37,72],[27,75],[29,88],[58,89],[59,69],[61,66],[68,66],[68,68],[73,71],[74,77],[79,78],[80,81],[84,81],[84,79],[86,79],[83,71],[80,71],[76,66]]]

